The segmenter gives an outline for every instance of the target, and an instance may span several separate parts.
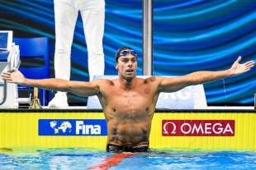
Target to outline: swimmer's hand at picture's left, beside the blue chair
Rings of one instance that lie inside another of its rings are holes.
[[[24,84],[26,81],[26,78],[22,75],[21,71],[18,71],[15,68],[12,71],[2,72],[1,77],[8,83]]]

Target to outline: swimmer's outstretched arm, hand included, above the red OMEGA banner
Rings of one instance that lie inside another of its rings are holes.
[[[239,64],[241,57],[233,63],[230,69],[225,71],[197,71],[186,76],[173,78],[158,77],[159,92],[174,92],[183,89],[189,85],[199,85],[212,80],[223,79],[228,76],[237,76],[254,67],[254,61],[244,62]]]

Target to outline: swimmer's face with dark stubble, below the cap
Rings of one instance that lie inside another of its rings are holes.
[[[136,75],[137,57],[132,54],[121,56],[116,63],[116,70],[126,80],[131,80]]]

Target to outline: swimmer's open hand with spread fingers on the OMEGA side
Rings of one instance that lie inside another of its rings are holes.
[[[232,67],[230,68],[230,73],[232,76],[242,74],[244,72],[250,71],[252,67],[254,67],[254,60],[251,60],[249,62],[244,62],[243,64],[240,64],[242,57],[239,56],[237,60],[233,63]]]

